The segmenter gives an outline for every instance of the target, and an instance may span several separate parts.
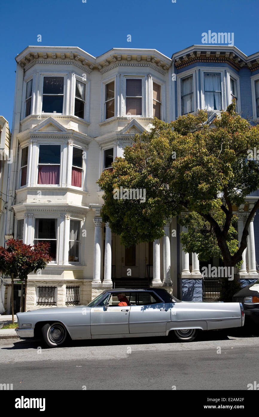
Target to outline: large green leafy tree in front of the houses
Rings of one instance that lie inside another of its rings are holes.
[[[248,226],[259,207],[249,213],[238,247],[233,206],[259,188],[258,162],[249,149],[259,149],[259,126],[235,113],[233,102],[221,117],[207,122],[207,113],[181,116],[171,123],[153,119],[151,133],[135,136],[113,172],[97,181],[104,190],[103,219],[131,246],[163,236],[165,218],[180,216],[189,226],[183,249],[200,260],[222,258],[224,266],[240,266],[247,247]],[[115,189],[144,188],[146,201],[115,199]],[[185,213],[183,215],[183,213]],[[229,284],[230,285],[230,284]],[[232,285],[233,286],[233,285]]]

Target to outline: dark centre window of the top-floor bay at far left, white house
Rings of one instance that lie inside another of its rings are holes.
[[[44,77],[42,113],[63,113],[64,77]]]

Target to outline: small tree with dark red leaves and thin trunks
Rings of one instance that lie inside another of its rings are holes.
[[[22,281],[21,311],[26,311],[27,278],[33,271],[44,269],[52,258],[49,256],[49,243],[25,245],[21,240],[9,239],[6,248],[0,246],[0,272],[11,277],[12,282],[12,323],[14,323],[13,281]],[[23,283],[25,282],[25,303],[23,306]]]

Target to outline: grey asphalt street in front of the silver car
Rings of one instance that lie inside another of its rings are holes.
[[[258,335],[206,332],[191,343],[165,337],[74,341],[0,341],[0,383],[20,390],[247,390],[259,382]]]

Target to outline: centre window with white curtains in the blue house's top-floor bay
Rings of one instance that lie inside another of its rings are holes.
[[[207,110],[222,110],[220,74],[204,74],[204,92]]]

